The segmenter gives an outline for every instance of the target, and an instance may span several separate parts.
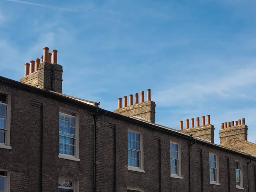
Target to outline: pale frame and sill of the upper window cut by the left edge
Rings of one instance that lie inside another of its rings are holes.
[[[6,149],[12,149],[10,146],[10,131],[11,131],[11,93],[6,91],[0,91],[0,93],[3,93],[7,95],[8,97],[8,104],[7,104],[7,118],[6,118],[6,143],[0,143],[0,148],[6,148]]]

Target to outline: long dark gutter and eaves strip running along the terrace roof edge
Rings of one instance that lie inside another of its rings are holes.
[[[25,89],[28,89],[28,90],[32,90],[32,91],[35,91],[35,92],[38,92],[38,93],[41,93],[41,94],[44,94],[44,95],[47,95],[47,96],[51,96],[51,97],[57,98],[57,99],[62,99],[63,101],[67,101],[67,102],[73,103],[75,105],[84,106],[86,108],[89,108],[93,112],[96,112],[96,110],[99,110],[102,113],[105,113],[106,115],[111,115],[111,116],[114,116],[114,117],[117,117],[117,118],[120,118],[120,119],[128,120],[130,122],[134,122],[134,123],[137,123],[137,124],[140,124],[140,125],[144,125],[144,126],[147,126],[147,127],[150,127],[150,128],[157,129],[159,131],[163,131],[163,132],[167,132],[167,133],[170,133],[170,134],[174,134],[174,135],[177,135],[179,137],[184,137],[186,139],[190,139],[190,140],[194,139],[194,140],[198,141],[199,143],[205,143],[207,145],[210,145],[210,146],[218,148],[218,149],[223,149],[225,151],[233,152],[233,153],[240,154],[240,155],[247,156],[247,157],[249,155],[251,155],[251,154],[247,154],[247,153],[244,153],[244,152],[236,151],[236,150],[233,150],[233,149],[230,149],[230,148],[226,148],[226,147],[223,147],[221,145],[217,145],[215,143],[209,143],[207,141],[204,141],[204,140],[192,137],[192,136],[190,136],[188,134],[184,134],[184,133],[181,133],[179,131],[174,131],[174,130],[171,130],[171,129],[168,129],[168,128],[163,128],[163,126],[160,126],[160,125],[157,125],[157,124],[153,125],[153,124],[151,124],[149,122],[144,122],[144,121],[140,121],[138,119],[130,118],[128,116],[123,116],[123,115],[120,115],[118,113],[114,113],[112,111],[108,111],[108,110],[99,108],[98,106],[93,106],[93,105],[90,105],[90,104],[87,104],[87,103],[84,103],[84,102],[81,102],[81,101],[78,101],[78,100],[75,100],[75,99],[71,99],[71,98],[66,97],[66,96],[59,95],[57,93],[52,93],[52,92],[49,92],[47,90],[39,89],[37,87],[33,87],[31,85],[24,84],[24,83],[21,83],[19,81],[8,79],[8,78],[3,77],[3,76],[0,76],[0,82],[1,81],[5,82],[7,84],[12,84],[12,85],[15,84],[18,87],[25,88]],[[98,103],[98,105],[99,105],[99,103]],[[255,156],[251,156],[251,157],[252,157],[253,160],[256,160]]]

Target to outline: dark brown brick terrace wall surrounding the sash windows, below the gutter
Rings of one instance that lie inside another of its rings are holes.
[[[56,192],[61,176],[79,180],[80,192],[93,192],[95,113],[96,192],[239,192],[236,160],[242,162],[243,191],[256,191],[255,156],[3,77],[1,91],[11,94],[12,149],[0,148],[10,192]],[[80,162],[58,158],[60,108],[79,113]],[[145,173],[128,170],[128,130],[143,135]],[[182,179],[170,177],[170,141],[180,146]],[[209,153],[218,156],[220,185],[209,182]]]

